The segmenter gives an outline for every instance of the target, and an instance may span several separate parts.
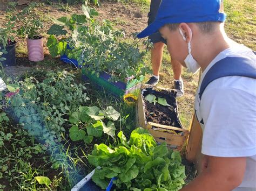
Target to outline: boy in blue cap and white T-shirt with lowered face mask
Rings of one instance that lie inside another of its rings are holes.
[[[139,38],[159,30],[172,58],[202,69],[195,113],[203,129],[201,172],[183,191],[256,190],[255,54],[224,31],[220,0],[163,0]]]

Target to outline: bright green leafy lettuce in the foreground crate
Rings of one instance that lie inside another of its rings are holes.
[[[157,145],[143,128],[133,130],[129,142],[118,133],[117,147],[95,145],[88,160],[95,170],[92,180],[106,189],[110,179],[117,190],[179,190],[185,184],[185,166],[179,152],[168,150],[166,143]]]

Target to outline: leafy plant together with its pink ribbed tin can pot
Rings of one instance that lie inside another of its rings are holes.
[[[26,37],[28,56],[30,61],[42,61],[44,59],[43,37],[40,30],[43,28],[43,17],[39,15],[37,3],[31,3],[18,14],[16,20],[21,23],[17,29],[17,35]]]

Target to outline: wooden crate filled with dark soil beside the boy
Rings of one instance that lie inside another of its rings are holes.
[[[136,116],[138,125],[149,130],[158,143],[166,142],[170,148],[180,151],[190,131],[185,130],[180,122],[176,94],[177,91],[173,89],[143,84],[139,91]],[[147,95],[164,98],[169,105],[150,103],[145,99]]]

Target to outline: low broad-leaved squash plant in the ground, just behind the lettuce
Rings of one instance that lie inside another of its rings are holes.
[[[93,137],[102,137],[103,132],[114,138],[116,128],[113,121],[119,117],[119,112],[111,106],[105,110],[96,106],[79,107],[69,118],[73,124],[69,130],[70,138],[73,141],[84,140],[87,144],[92,142]]]

